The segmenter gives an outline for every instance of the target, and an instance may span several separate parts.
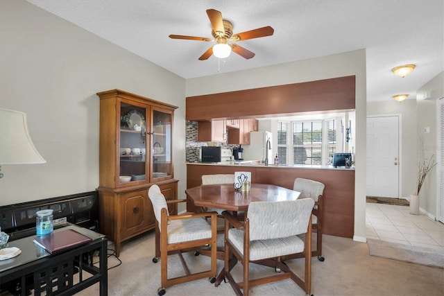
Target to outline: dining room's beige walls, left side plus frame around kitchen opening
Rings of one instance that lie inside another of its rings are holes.
[[[2,166],[6,176],[0,180],[0,204],[96,189],[96,92],[119,88],[178,105],[174,168],[180,180],[179,198],[183,198],[185,96],[355,75],[355,239],[365,238],[365,50],[185,81],[26,1],[1,1],[0,28],[0,107],[28,114],[31,137],[47,161]]]

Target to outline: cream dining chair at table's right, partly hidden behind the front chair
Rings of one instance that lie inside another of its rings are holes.
[[[300,198],[311,198],[314,200],[313,211],[311,212],[311,227],[316,230],[316,250],[311,252],[311,256],[318,256],[319,261],[324,261],[322,256],[322,223],[324,208],[325,185],[321,182],[296,178],[293,184],[293,190],[300,192]],[[300,258],[300,255],[288,256],[287,258]]]

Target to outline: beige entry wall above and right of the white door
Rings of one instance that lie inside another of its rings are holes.
[[[414,72],[411,74],[414,75]],[[368,102],[367,115],[393,115],[401,117],[401,191],[402,196],[408,198],[416,190],[418,148],[422,138],[425,144],[425,155],[436,155],[438,144],[436,139],[436,100],[444,97],[444,72],[441,72],[417,90],[416,96],[420,98],[428,93],[427,100],[406,100],[399,103],[393,99],[386,101]],[[425,133],[429,127],[430,132]],[[420,192],[421,211],[436,216],[437,198],[436,168],[427,176]]]

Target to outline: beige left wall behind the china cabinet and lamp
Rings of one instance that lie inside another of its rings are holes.
[[[1,0],[0,28],[0,107],[28,114],[46,159],[1,166],[0,205],[99,186],[96,92],[115,88],[179,107],[173,157],[185,195],[185,79],[26,1]]]

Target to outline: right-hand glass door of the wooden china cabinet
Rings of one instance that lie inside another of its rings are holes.
[[[171,123],[173,114],[166,110],[153,108],[153,134],[151,137],[153,149],[153,179],[173,175],[171,159]]]

